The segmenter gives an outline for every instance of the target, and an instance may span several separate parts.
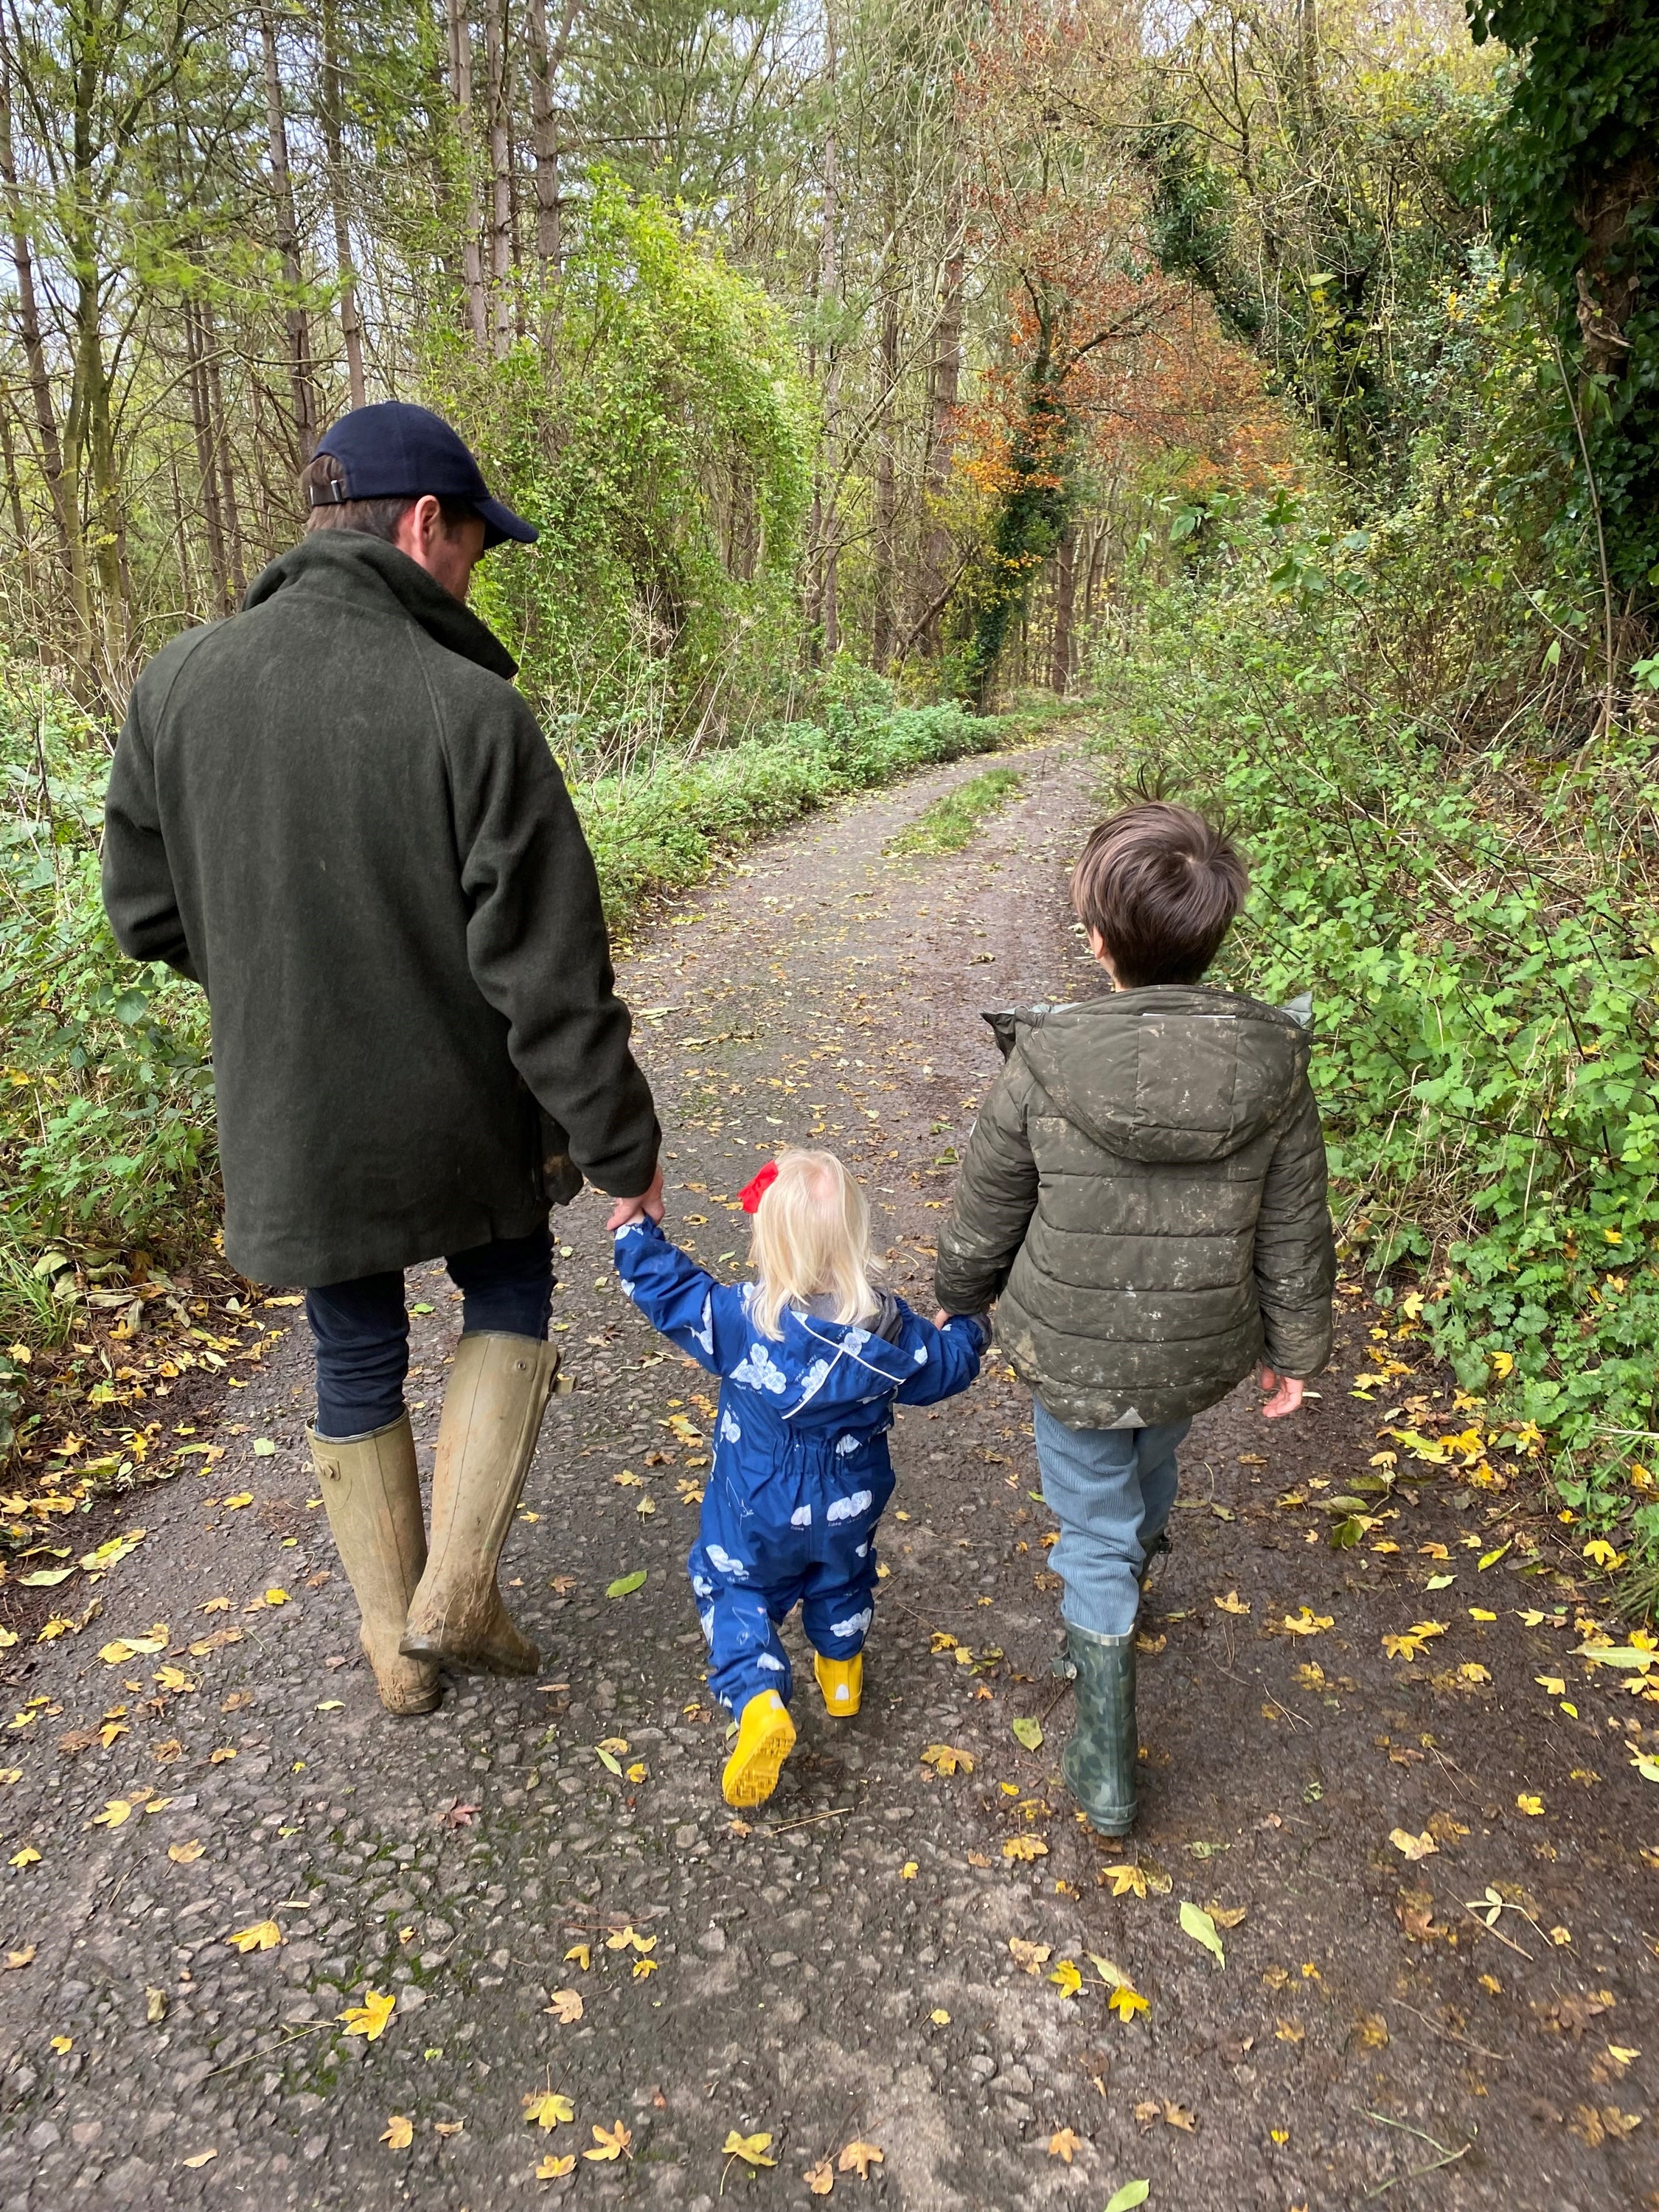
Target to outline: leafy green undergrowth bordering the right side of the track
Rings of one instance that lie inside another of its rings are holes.
[[[1283,577],[1283,544],[1239,526],[1225,564],[1148,588],[1102,664],[1110,785],[1241,834],[1254,885],[1217,980],[1314,993],[1347,1265],[1383,1303],[1416,1287],[1486,1433],[1544,1447],[1586,1571],[1650,1606],[1652,732],[1562,739],[1520,712],[1460,741],[1391,706],[1340,611]],[[1502,1491],[1502,1467],[1467,1480]]]

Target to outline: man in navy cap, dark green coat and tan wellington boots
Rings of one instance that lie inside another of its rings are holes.
[[[139,675],[104,905],[208,993],[226,1254],[305,1285],[363,1648],[387,1710],[429,1712],[440,1659],[540,1663],[495,1568],[557,1369],[549,1206],[586,1172],[661,1217],[659,1133],[582,825],[465,606],[535,531],[425,407],[354,409],[301,482],[301,544]],[[403,1270],[440,1254],[465,1303],[427,1546]]]

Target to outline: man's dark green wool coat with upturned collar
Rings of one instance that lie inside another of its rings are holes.
[[[104,905],[208,993],[254,1281],[526,1237],[577,1183],[549,1190],[566,1133],[602,1190],[650,1181],[593,856],[513,675],[396,546],[319,531],[137,679]]]

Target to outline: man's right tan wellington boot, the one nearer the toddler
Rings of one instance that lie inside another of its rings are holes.
[[[431,1471],[431,1553],[409,1604],[405,1659],[482,1674],[533,1674],[542,1663],[513,1628],[495,1564],[557,1371],[557,1352],[535,1336],[478,1329],[456,1347]]]

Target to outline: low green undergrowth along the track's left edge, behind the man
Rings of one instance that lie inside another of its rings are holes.
[[[905,706],[843,670],[818,721],[577,783],[606,914],[626,925],[814,807],[1035,726]],[[219,1219],[206,1002],[108,933],[106,779],[106,732],[29,664],[0,664],[0,1458],[31,1349],[64,1343],[135,1250],[179,1263]]]

